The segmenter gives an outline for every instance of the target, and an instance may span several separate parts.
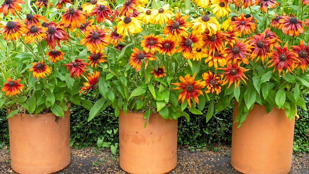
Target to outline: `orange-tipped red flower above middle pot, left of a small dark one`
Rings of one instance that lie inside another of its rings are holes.
[[[129,65],[133,68],[135,68],[136,71],[141,70],[141,64],[142,61],[145,63],[145,69],[148,65],[147,61],[148,60],[156,60],[157,58],[153,56],[151,52],[146,53],[144,50],[140,51],[138,48],[133,48],[133,53],[131,54],[131,57],[129,59]]]

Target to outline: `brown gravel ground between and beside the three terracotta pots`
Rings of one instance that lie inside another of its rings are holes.
[[[168,174],[239,174],[230,164],[231,148],[220,150],[190,151],[178,148],[177,167]],[[16,174],[10,167],[10,152],[7,148],[0,150],[0,173]],[[56,174],[126,174],[119,167],[119,159],[112,157],[107,149],[95,153],[91,147],[71,148],[71,163]],[[290,174],[309,174],[309,155],[294,155]]]

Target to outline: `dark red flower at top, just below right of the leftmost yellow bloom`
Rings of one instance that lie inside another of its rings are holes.
[[[98,5],[95,7],[95,9],[89,13],[90,16],[95,15],[95,20],[99,22],[105,22],[105,18],[107,20],[112,21],[112,19],[109,17],[109,15],[114,16],[112,13],[111,7],[109,6],[104,6],[104,5]]]

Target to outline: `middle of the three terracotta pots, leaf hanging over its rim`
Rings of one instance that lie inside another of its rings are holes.
[[[119,114],[119,163],[131,174],[163,174],[177,165],[177,120],[144,113]]]

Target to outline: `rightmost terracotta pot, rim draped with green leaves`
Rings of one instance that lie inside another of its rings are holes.
[[[233,114],[232,166],[244,174],[286,174],[291,169],[295,118],[290,121],[283,109],[255,104],[237,128]]]

